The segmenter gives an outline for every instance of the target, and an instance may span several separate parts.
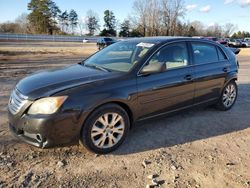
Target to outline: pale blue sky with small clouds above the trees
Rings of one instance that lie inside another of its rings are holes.
[[[103,25],[103,12],[112,10],[116,18],[122,22],[133,13],[135,0],[54,0],[59,8],[74,9],[80,18],[84,18],[88,10],[99,15]],[[0,0],[0,22],[13,21],[26,12],[30,0]],[[237,30],[250,32],[250,0],[184,0],[186,14],[184,21],[200,21],[206,26],[216,23],[224,25],[233,23]]]

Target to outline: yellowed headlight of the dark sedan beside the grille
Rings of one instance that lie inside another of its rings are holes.
[[[53,114],[67,98],[67,96],[60,96],[39,99],[31,105],[28,114]]]

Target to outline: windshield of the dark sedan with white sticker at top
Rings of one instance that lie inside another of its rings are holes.
[[[152,43],[117,42],[88,58],[84,65],[108,71],[129,72],[153,46]]]

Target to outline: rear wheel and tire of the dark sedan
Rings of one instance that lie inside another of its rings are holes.
[[[231,90],[230,88],[233,90]],[[236,82],[232,80],[223,88],[223,91],[221,93],[221,96],[217,104],[217,108],[222,111],[230,110],[235,104],[237,96],[238,96],[238,87]]]

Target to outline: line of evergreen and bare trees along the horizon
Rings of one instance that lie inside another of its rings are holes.
[[[29,14],[22,14],[14,22],[0,24],[0,32],[32,34],[80,34],[142,37],[142,36],[215,36],[250,37],[249,32],[234,33],[236,26],[202,22],[188,22],[184,0],[135,0],[132,14],[119,23],[114,12],[105,10],[103,29],[97,13],[89,10],[85,19],[79,19],[73,9],[62,11],[52,0],[31,0],[27,6]]]

